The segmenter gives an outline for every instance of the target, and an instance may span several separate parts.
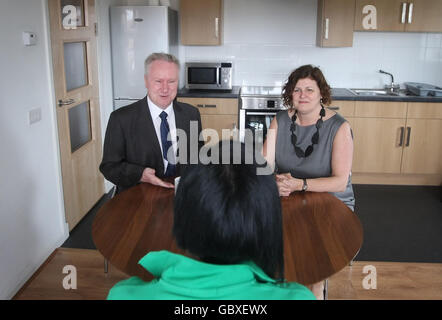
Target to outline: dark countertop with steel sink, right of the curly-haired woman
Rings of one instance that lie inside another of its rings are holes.
[[[365,96],[355,95],[346,88],[332,88],[332,100],[350,101],[398,101],[398,102],[442,102],[442,97],[424,97],[407,95],[404,92],[399,96]]]

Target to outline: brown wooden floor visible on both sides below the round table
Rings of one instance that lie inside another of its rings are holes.
[[[71,274],[63,273],[67,265],[76,268],[77,289],[63,287],[63,279]],[[112,266],[107,274],[103,270],[104,259],[98,251],[59,248],[14,299],[106,299],[109,289],[127,275]],[[441,275],[442,264],[357,261],[329,279],[328,298],[440,300]],[[364,279],[365,287],[376,284],[376,289],[364,289]]]

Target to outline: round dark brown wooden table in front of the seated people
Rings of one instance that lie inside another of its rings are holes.
[[[109,200],[98,211],[92,237],[100,253],[130,276],[149,281],[138,265],[149,251],[185,254],[172,236],[174,190],[139,184]],[[356,256],[361,223],[329,193],[297,192],[281,198],[285,277],[309,285],[343,269]]]

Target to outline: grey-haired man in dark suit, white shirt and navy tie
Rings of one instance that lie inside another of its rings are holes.
[[[173,188],[163,178],[179,176],[199,151],[201,116],[197,108],[175,100],[178,79],[173,55],[151,54],[145,61],[147,96],[111,113],[100,171],[117,192],[140,182]]]

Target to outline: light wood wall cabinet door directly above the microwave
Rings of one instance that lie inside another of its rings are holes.
[[[181,44],[222,43],[222,0],[180,0]]]

